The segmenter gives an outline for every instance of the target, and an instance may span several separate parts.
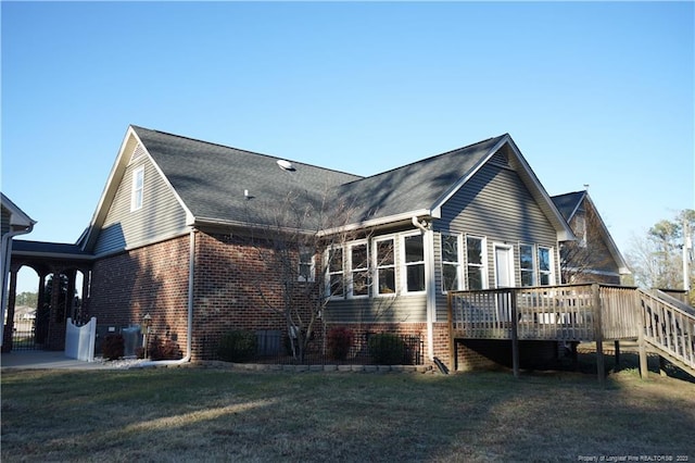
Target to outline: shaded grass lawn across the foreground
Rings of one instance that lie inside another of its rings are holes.
[[[2,373],[3,462],[695,461],[695,384],[574,373]]]

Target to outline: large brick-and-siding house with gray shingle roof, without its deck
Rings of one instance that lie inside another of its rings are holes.
[[[78,242],[16,241],[13,268],[31,265],[41,287],[84,275],[78,309],[39,308],[53,349],[79,310],[101,333],[148,314],[184,361],[214,359],[229,330],[302,351],[333,326],[418,337],[433,361],[450,349],[450,290],[558,285],[564,270],[619,283],[624,262],[589,215],[585,191],[554,201],[506,134],[361,177],[130,126]],[[590,223],[601,256],[564,262]]]

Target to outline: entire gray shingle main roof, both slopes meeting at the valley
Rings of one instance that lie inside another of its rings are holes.
[[[348,204],[354,222],[427,210],[504,137],[365,178],[294,161],[294,171],[283,171],[275,157],[132,128],[197,220],[240,223],[266,222],[267,209],[285,203],[288,195],[324,211],[326,200]]]

